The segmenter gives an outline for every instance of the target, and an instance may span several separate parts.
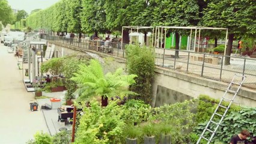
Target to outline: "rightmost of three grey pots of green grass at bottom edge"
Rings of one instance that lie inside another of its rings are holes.
[[[171,144],[172,125],[161,122],[157,126],[160,133],[159,144]]]

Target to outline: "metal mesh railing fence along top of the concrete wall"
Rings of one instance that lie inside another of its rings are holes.
[[[120,43],[105,41],[86,40],[79,38],[66,39],[65,37],[56,37],[46,35],[46,40],[55,41],[62,44],[78,47],[78,49],[94,50],[107,53],[109,55],[126,58],[125,47]],[[168,68],[183,73],[195,74],[206,77],[207,79],[219,80],[229,83],[234,74],[246,76],[244,86],[256,88],[256,59],[241,56],[224,56],[210,53],[197,53],[186,50],[174,50],[154,48],[155,64],[159,67]],[[175,56],[178,52],[178,56]],[[225,59],[230,59],[230,65],[225,65]]]

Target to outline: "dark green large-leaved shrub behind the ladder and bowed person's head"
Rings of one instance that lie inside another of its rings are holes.
[[[239,112],[231,111],[225,118],[219,129],[216,131],[214,141],[220,141],[228,143],[234,134],[239,134],[241,130],[247,129],[251,133],[256,132],[256,108],[243,107]],[[200,134],[204,127],[206,127],[206,122],[199,124],[195,128],[195,132]],[[209,126],[210,130],[216,127],[215,124]],[[210,137],[209,133],[206,133],[206,137]]]

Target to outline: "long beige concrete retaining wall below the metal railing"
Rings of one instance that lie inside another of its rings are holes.
[[[82,50],[73,46],[54,43],[56,49],[61,52],[64,47],[64,55],[87,55],[85,52],[96,53],[102,58],[114,58],[111,64],[107,65],[109,71],[118,67],[125,68],[126,59],[110,56],[105,53],[97,53],[91,50]],[[161,106],[163,104],[172,104],[181,102],[190,98],[197,98],[200,94],[209,95],[212,98],[220,99],[228,87],[229,83],[210,80],[203,77],[193,76],[191,74],[181,73],[179,71],[167,70],[162,67],[156,67],[156,75],[153,83],[153,101],[152,106]],[[233,88],[236,90],[236,87]],[[232,98],[233,94],[227,94],[227,98]],[[256,91],[248,88],[241,88],[234,103],[256,107]]]

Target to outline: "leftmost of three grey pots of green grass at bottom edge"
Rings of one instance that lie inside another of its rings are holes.
[[[136,144],[138,137],[141,136],[141,128],[138,126],[127,125],[124,129],[124,136],[126,136],[126,144]]]

